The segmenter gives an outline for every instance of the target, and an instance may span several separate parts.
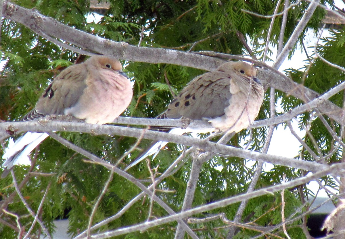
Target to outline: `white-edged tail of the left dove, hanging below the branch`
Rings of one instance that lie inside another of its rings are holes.
[[[8,148],[5,149],[5,153],[2,156],[2,158],[5,159],[2,167],[6,168],[4,169],[1,178],[6,177],[14,165],[28,164],[30,162],[28,155],[47,137],[47,133],[27,132],[19,137],[14,143],[11,139],[12,141],[10,142]]]

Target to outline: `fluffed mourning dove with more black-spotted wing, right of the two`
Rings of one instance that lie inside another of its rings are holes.
[[[255,77],[256,69],[244,62],[226,62],[216,71],[194,78],[157,116],[164,119],[181,117],[211,123],[210,128],[173,128],[172,134],[213,131],[239,132],[251,124],[259,113],[264,99],[264,88]],[[125,170],[138,164],[147,156],[155,157],[168,142],[156,141],[144,150]]]

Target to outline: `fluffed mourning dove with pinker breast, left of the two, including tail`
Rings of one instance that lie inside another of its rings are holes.
[[[126,110],[133,96],[121,63],[111,56],[92,56],[82,64],[63,70],[38,99],[23,121],[45,115],[72,115],[90,124],[111,123]],[[6,177],[13,165],[28,162],[28,154],[47,133],[27,132],[5,149]]]

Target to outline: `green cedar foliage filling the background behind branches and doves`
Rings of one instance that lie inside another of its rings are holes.
[[[237,38],[236,32],[239,31],[243,33],[248,42],[253,39],[254,54],[262,59],[270,19],[260,18],[242,10],[272,15],[277,3],[270,0],[224,0],[221,2],[212,0],[110,0],[108,2],[110,8],[98,23],[87,20],[87,17],[93,13],[89,8],[89,2],[84,0],[19,0],[16,1],[16,4],[28,9],[36,8],[42,14],[76,29],[132,45],[138,44],[141,28],[144,26],[145,34],[141,46],[146,47],[188,51],[193,46],[193,51],[215,51],[236,55],[247,54],[243,44]],[[333,4],[331,0],[322,1],[322,4],[326,2]],[[308,4],[307,1],[300,2],[289,10],[284,41],[293,32]],[[284,2],[281,2],[279,11],[283,9]],[[325,11],[322,8],[317,8],[313,18],[308,23],[308,28],[317,31],[324,14]],[[282,16],[280,15],[273,26],[270,42],[274,46],[278,42],[281,21]],[[299,42],[304,41],[305,33],[306,29],[299,37]],[[318,50],[325,59],[344,67],[344,39],[344,29],[333,31],[332,37],[323,39],[324,46],[319,46]],[[193,45],[194,42],[198,43]],[[295,47],[290,54],[293,54],[295,50],[300,49]],[[78,54],[75,52],[56,46],[21,24],[3,19],[1,59],[6,60],[6,64],[1,76],[6,79],[6,82],[0,84],[0,119],[2,121],[20,120],[23,115],[34,107],[38,97],[53,77],[59,73],[60,69],[68,66],[70,62],[74,62],[77,56]],[[173,97],[166,83],[165,74],[176,93],[193,77],[203,73],[201,70],[178,65],[127,61],[122,63],[126,64],[125,72],[134,79],[134,98],[128,110],[123,114],[126,116],[152,118],[165,110]],[[288,69],[287,72],[290,73],[295,82],[301,83],[307,67],[308,63],[301,69]],[[304,85],[318,93],[324,93],[343,79],[344,72],[327,65],[321,60],[316,60],[309,70]],[[341,92],[333,96],[331,101],[338,106],[342,106],[343,97]],[[284,111],[291,110],[302,104],[300,100],[292,96],[286,96],[282,92],[276,93],[276,100],[278,98],[282,100]],[[138,101],[138,99],[140,100]],[[266,95],[258,118],[264,119],[268,115],[269,96]],[[339,124],[328,118],[326,119],[334,127],[334,131],[339,134],[341,131]],[[310,123],[310,120],[311,115],[309,112],[298,116],[300,127],[310,127],[310,132],[316,139],[321,152],[327,154],[334,147],[333,137],[320,120],[316,119],[312,123]],[[240,142],[248,140],[249,134],[249,130],[243,130],[231,139],[230,144],[240,147]],[[249,149],[261,151],[266,134],[267,127],[253,129],[252,143]],[[116,159],[121,157],[136,142],[135,138],[119,136],[92,136],[81,133],[60,133],[60,135],[108,162],[116,162]],[[304,141],[315,153],[318,153],[310,136],[306,136]],[[6,145],[7,141],[3,143]],[[149,143],[149,140],[143,139],[140,147],[143,148]],[[162,150],[156,159],[151,162],[152,168],[159,163],[160,172],[164,172],[164,169],[180,153],[178,150],[180,148],[175,144],[168,144],[168,149]],[[2,150],[0,154],[3,154]],[[131,154],[131,158],[138,154],[139,151],[135,150]],[[303,148],[301,148],[300,154],[304,159],[314,160]],[[332,154],[327,160],[329,163],[336,163],[339,162],[341,156],[342,147],[339,147],[336,153]],[[124,164],[128,164],[131,158],[127,158]],[[68,230],[73,236],[87,227],[90,212],[108,179],[109,172],[104,167],[86,163],[83,159],[83,156],[75,154],[73,150],[67,149],[50,138],[47,138],[39,147],[35,171],[52,174],[47,177],[31,177],[21,192],[32,210],[37,211],[44,191],[50,183],[50,189],[41,214],[41,219],[50,232],[54,230],[52,221],[62,217],[69,218],[70,226]],[[244,193],[256,167],[256,164],[249,167],[245,162],[246,160],[242,158],[215,156],[203,164],[193,206],[204,205],[208,202]],[[122,168],[124,166],[120,165]],[[157,185],[158,188],[171,190],[170,193],[158,191],[156,194],[164,199],[174,211],[181,209],[190,166],[191,162],[187,160],[184,166],[174,175]],[[218,166],[222,166],[223,169],[216,169]],[[27,170],[28,166],[15,167],[14,171],[19,182],[26,175]],[[132,168],[130,173],[141,179],[150,176],[145,162]],[[274,166],[269,172],[262,173],[256,188],[278,184],[284,174],[289,180],[298,178],[304,175],[305,172],[283,166]],[[332,178],[324,177],[322,180],[325,185],[335,187]],[[12,178],[10,176],[0,180],[2,199],[14,191],[11,183]],[[302,210],[305,210],[302,207],[303,202],[300,197],[309,197],[311,192],[304,186],[301,186],[301,188],[302,190],[295,188],[285,191],[286,217],[299,215]],[[135,185],[118,175],[114,175],[109,189],[101,200],[93,222],[96,223],[116,214],[138,193],[140,191]],[[280,215],[281,200],[279,193],[249,200],[242,217],[244,222],[255,221],[257,225],[261,226],[279,224],[282,221]],[[229,205],[207,213],[225,212],[228,219],[233,219],[238,205]],[[149,206],[149,199],[141,200],[119,219],[112,221],[107,227],[100,230],[124,227],[145,221]],[[8,205],[7,210],[17,215],[27,214],[27,210],[18,196]],[[152,213],[155,217],[167,215],[167,212],[156,204],[154,204]],[[204,217],[205,215],[196,216]],[[3,214],[1,217],[11,223],[14,221],[8,215],[4,216]],[[20,224],[25,228],[30,227],[31,223],[31,217],[22,217],[20,219]],[[305,238],[299,226],[301,223],[301,220],[296,220],[289,225],[288,233],[291,238]],[[119,236],[118,238],[173,238],[174,230],[172,228],[176,226],[176,222],[165,224],[149,229],[144,233],[134,232],[128,236]],[[224,238],[227,230],[223,226],[224,224],[220,220],[203,224],[191,224],[192,228],[200,229],[196,231],[200,238]],[[38,236],[39,233],[39,226],[36,225],[32,232],[32,238]],[[281,231],[277,233],[283,236]],[[16,231],[5,225],[0,226],[0,235],[1,238],[8,239],[18,237]],[[235,238],[250,238],[255,235],[257,235],[256,231],[241,229]]]

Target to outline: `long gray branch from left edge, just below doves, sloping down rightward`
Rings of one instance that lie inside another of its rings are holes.
[[[96,125],[86,123],[73,122],[52,122],[47,119],[39,121],[26,122],[4,122],[0,123],[0,132],[50,132],[50,131],[68,131],[82,132],[93,135],[123,135],[128,137],[140,137],[145,129],[128,128],[114,125]],[[300,168],[311,172],[317,172],[328,168],[328,165],[322,165],[316,162],[308,162],[294,158],[280,157],[269,154],[253,152],[250,150],[235,148],[227,145],[220,145],[208,142],[203,139],[193,138],[189,136],[174,135],[163,132],[145,130],[144,138],[152,140],[168,141],[176,144],[195,146],[206,151],[216,154],[252,159],[259,162],[268,162],[275,165],[283,165],[287,167]]]

